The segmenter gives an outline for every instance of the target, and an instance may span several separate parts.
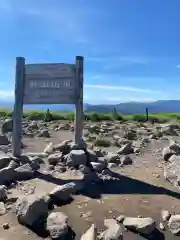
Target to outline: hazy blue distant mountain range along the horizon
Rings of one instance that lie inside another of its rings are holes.
[[[0,108],[13,109],[12,102],[0,102]],[[25,105],[24,109],[46,110],[49,108],[52,111],[74,111],[74,105]],[[109,113],[113,109],[122,114],[136,114],[144,113],[148,108],[149,113],[163,113],[163,112],[180,112],[180,100],[159,100],[155,102],[126,102],[119,104],[101,104],[91,105],[84,104],[86,112],[101,112]]]

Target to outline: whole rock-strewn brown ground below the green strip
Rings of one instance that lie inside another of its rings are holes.
[[[1,122],[0,240],[178,239],[180,124]]]

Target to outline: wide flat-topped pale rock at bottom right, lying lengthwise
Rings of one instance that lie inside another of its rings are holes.
[[[156,228],[156,222],[152,218],[126,217],[123,225],[127,229],[132,229],[145,235],[151,234]]]

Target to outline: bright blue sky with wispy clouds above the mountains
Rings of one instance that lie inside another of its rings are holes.
[[[0,99],[13,96],[15,58],[73,63],[84,101],[180,99],[179,0],[0,0]]]

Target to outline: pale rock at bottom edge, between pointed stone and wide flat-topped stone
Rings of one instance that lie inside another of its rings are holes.
[[[104,225],[107,230],[100,234],[100,239],[104,240],[122,240],[122,229],[115,219],[105,219]]]

